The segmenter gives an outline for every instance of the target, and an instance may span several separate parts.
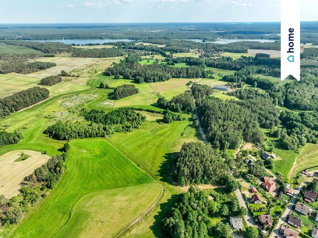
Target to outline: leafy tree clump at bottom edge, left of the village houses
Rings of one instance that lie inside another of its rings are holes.
[[[212,197],[209,200],[209,195]],[[218,222],[212,224],[209,215],[218,214],[220,217],[238,216],[247,214],[244,207],[239,206],[236,197],[217,192],[205,193],[198,187],[190,187],[188,192],[180,194],[178,201],[170,209],[168,216],[163,220],[164,230],[169,237],[232,237],[232,228],[229,224]]]

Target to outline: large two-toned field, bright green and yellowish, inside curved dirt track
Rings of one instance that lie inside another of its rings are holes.
[[[105,217],[105,221],[110,216],[120,221],[121,218],[116,218],[116,215],[136,218],[139,215],[136,214],[136,210],[140,212],[147,210],[149,204],[153,203],[159,196],[161,190],[159,184],[149,185],[149,183],[154,182],[153,178],[142,171],[107,140],[100,138],[77,139],[72,140],[70,145],[71,149],[66,160],[67,170],[57,187],[52,190],[51,194],[38,209],[32,210],[24,218],[19,226],[12,226],[13,229],[10,232],[1,234],[3,237],[51,237],[69,219],[73,222],[73,214],[74,220],[76,220],[76,217],[81,217],[81,229],[74,230],[72,237],[87,237],[85,236],[87,234],[93,235],[88,235],[89,237],[98,237],[102,235],[100,233],[102,231],[100,231],[99,226],[94,224],[101,223],[103,217]],[[136,188],[136,191],[140,189],[141,194],[136,194],[135,191],[131,190],[133,194],[123,195],[126,199],[123,199],[122,202],[116,201],[114,197],[107,196],[113,195],[117,196],[117,198],[120,196],[119,192],[110,191],[110,189],[141,186],[142,184],[145,185],[144,188]],[[145,192],[146,190],[147,192]],[[92,197],[93,194],[91,193],[94,192],[97,192],[97,197]],[[141,197],[136,199],[139,195]],[[146,196],[149,201],[145,203],[138,201],[145,199],[142,197]],[[96,198],[97,200],[95,200]],[[131,204],[131,207],[127,207],[125,206],[127,205],[127,200],[132,203],[137,200],[137,204]],[[94,204],[97,202],[103,204],[104,209],[99,209],[98,204],[95,204],[95,206],[80,206],[80,204]],[[104,203],[109,204],[109,206],[105,206]],[[112,207],[114,204],[118,209],[116,212],[111,209],[114,214],[110,215],[109,208],[114,208]],[[71,216],[70,208],[73,209]],[[124,221],[121,221],[120,225],[117,226],[114,226],[112,221],[107,221],[110,226],[107,234],[114,235],[123,226],[131,222],[129,219],[122,220]],[[73,227],[66,226],[63,229],[68,232],[68,229],[71,231]],[[62,235],[60,237],[65,236]]]

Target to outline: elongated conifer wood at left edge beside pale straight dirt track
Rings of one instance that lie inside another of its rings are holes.
[[[0,117],[43,101],[49,97],[49,94],[46,88],[33,87],[2,98],[0,99]]]

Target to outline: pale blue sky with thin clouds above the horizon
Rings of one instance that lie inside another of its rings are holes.
[[[301,21],[317,21],[318,1],[300,1]],[[0,23],[277,21],[280,0],[0,0]]]

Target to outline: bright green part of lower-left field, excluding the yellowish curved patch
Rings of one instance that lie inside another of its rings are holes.
[[[51,237],[68,221],[71,207],[75,205],[73,207],[74,217],[78,216],[77,212],[80,214],[82,207],[76,204],[82,202],[83,199],[86,200],[86,197],[89,201],[91,196],[85,196],[86,194],[153,181],[148,174],[105,139],[77,139],[71,141],[70,146],[71,149],[66,160],[67,170],[57,187],[52,190],[38,209],[30,212],[16,229],[9,234],[4,234],[4,237]],[[116,191],[114,193],[116,195]],[[158,195],[159,193],[157,193]],[[100,199],[105,203],[109,202],[109,198],[105,194],[101,195]],[[145,210],[147,205],[144,207]],[[96,207],[91,207],[91,210],[89,207],[86,209],[89,209],[91,214],[96,212]],[[92,222],[88,217],[84,215],[82,218],[86,219],[86,224]],[[107,217],[108,215],[105,219]],[[100,217],[95,217],[95,219],[100,221]],[[82,229],[84,228],[82,227]],[[89,232],[90,229],[87,226],[86,232]]]

